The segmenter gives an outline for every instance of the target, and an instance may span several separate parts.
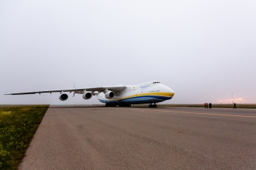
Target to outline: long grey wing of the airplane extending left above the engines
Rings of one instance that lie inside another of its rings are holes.
[[[23,94],[36,94],[36,93],[61,93],[61,92],[69,92],[72,93],[73,91],[75,93],[81,93],[84,90],[86,91],[98,91],[102,92],[104,90],[110,90],[114,92],[118,92],[121,90],[124,90],[125,86],[124,85],[112,85],[112,86],[103,86],[102,88],[77,88],[77,89],[68,89],[68,90],[49,90],[49,91],[33,91],[33,92],[26,92],[26,93],[7,93],[4,95],[23,95]]]

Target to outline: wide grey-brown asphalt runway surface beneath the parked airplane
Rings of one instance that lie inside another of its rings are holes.
[[[256,109],[49,108],[20,169],[256,169]]]

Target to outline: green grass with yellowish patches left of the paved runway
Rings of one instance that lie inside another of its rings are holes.
[[[0,107],[0,169],[18,169],[48,106]]]

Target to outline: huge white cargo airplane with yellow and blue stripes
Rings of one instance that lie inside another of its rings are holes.
[[[111,85],[101,88],[79,88],[69,90],[49,90],[26,93],[8,93],[4,95],[23,95],[36,93],[61,93],[59,99],[66,101],[67,93],[82,94],[84,99],[97,96],[100,102],[106,107],[131,107],[131,104],[149,104],[148,107],[157,107],[157,103],[170,100],[174,96],[174,91],[158,81],[144,82],[138,85]]]

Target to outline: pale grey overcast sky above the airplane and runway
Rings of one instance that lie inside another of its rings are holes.
[[[231,93],[256,103],[255,9],[255,0],[0,1],[0,104],[100,104],[4,93],[151,80],[175,91],[167,104],[232,103]]]

